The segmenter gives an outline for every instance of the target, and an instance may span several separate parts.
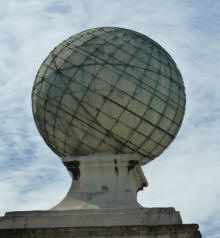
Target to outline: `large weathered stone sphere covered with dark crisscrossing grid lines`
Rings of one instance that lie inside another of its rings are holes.
[[[55,47],[37,73],[32,105],[40,134],[61,157],[137,153],[149,161],[175,138],[185,89],[159,44],[102,27]]]

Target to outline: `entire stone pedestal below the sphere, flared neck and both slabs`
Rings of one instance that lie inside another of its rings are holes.
[[[174,208],[143,208],[137,192],[147,186],[136,155],[62,158],[72,177],[67,196],[48,211],[8,212],[0,238],[199,238]]]

